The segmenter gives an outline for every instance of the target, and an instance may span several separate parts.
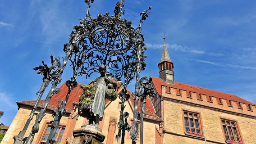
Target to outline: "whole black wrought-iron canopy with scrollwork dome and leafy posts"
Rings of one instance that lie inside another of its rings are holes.
[[[69,99],[71,90],[77,86],[77,77],[85,75],[86,78],[90,77],[92,73],[98,72],[98,67],[104,64],[108,71],[107,75],[115,77],[118,80],[122,80],[123,90],[119,94],[119,99],[122,101],[119,117],[119,134],[117,135],[118,143],[124,143],[125,130],[130,130],[130,136],[133,139],[133,143],[137,140],[137,105],[138,98],[141,99],[142,104],[142,117],[145,114],[143,108],[145,108],[146,95],[149,89],[146,88],[146,83],[143,83],[146,79],[143,77],[140,79],[140,72],[146,67],[144,52],[146,50],[144,44],[144,38],[142,35],[141,24],[149,16],[148,10],[141,13],[141,20],[139,25],[134,28],[132,22],[125,18],[121,18],[124,14],[123,6],[124,0],[118,1],[115,5],[114,15],[110,16],[110,13],[98,14],[96,18],[90,15],[91,3],[94,0],[85,0],[87,3],[87,14],[85,18],[80,19],[80,24],[73,26],[73,31],[70,34],[69,42],[64,44],[64,52],[66,56],[63,57],[63,63],[59,58],[51,56],[51,66],[47,66],[43,61],[42,65],[35,67],[34,70],[38,71],[38,74],[43,74],[43,82],[40,90],[37,91],[38,99],[35,106],[27,119],[27,122],[22,131],[18,135],[14,136],[14,144],[30,144],[33,141],[34,135],[39,130],[39,123],[45,116],[46,108],[50,102],[53,94],[59,93],[57,85],[61,83],[61,76],[68,63],[71,62],[73,68],[73,76],[69,81],[66,81],[66,85],[69,90],[64,100],[58,101],[58,108],[52,110],[54,121],[52,121],[51,131],[46,144],[54,144],[55,132],[59,126],[59,121],[64,115],[66,103]],[[133,126],[129,126],[127,123],[127,112],[124,110],[124,102],[129,99],[127,94],[127,85],[133,78],[136,78],[135,92],[132,95],[134,99],[134,121]],[[35,113],[38,103],[41,100],[46,88],[51,84],[50,91],[46,95],[45,103],[39,113]],[[34,124],[31,133],[28,137],[24,137],[27,127],[29,126],[32,117],[36,115],[36,123]],[[143,124],[143,119],[141,119]],[[141,124],[141,126],[142,126]],[[141,134],[143,131],[141,132]],[[120,140],[122,136],[122,139]],[[143,140],[143,138],[142,138]],[[143,142],[141,142],[143,143]]]

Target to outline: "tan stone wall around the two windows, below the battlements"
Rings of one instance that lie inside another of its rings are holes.
[[[220,118],[234,120],[238,124],[238,130],[242,135],[245,144],[256,144],[255,123],[256,117],[249,117],[242,114],[233,114],[232,112],[221,111],[219,109],[210,109],[200,105],[186,104],[177,99],[164,100],[164,144],[170,144],[169,141],[175,141],[175,144],[186,144],[186,141],[193,141],[191,144],[205,144],[203,138],[194,138],[185,135],[183,110],[198,112],[201,117],[201,126],[207,139],[207,144],[225,144]]]

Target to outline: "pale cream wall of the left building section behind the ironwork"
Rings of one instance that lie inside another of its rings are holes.
[[[111,119],[116,119],[116,124],[115,124],[115,129],[114,130],[114,135],[113,135],[113,144],[116,144],[115,136],[118,134],[118,127],[117,127],[117,122],[119,122],[119,115],[120,115],[120,108],[119,108],[119,99],[116,99],[115,101],[109,101],[105,105],[105,113],[103,117],[103,121],[100,121],[99,127],[102,129],[102,133],[106,136],[104,140],[104,144],[106,144],[106,141],[108,139],[108,134],[109,134],[109,126]],[[133,122],[133,104],[130,100],[125,103],[126,107],[124,109],[125,112],[129,113],[129,118],[128,118],[128,123],[132,125]],[[27,121],[27,118],[32,110],[32,107],[24,106],[21,107],[16,116],[14,117],[14,120],[12,121],[9,130],[7,131],[3,141],[1,144],[13,144],[14,139],[13,137],[15,135],[18,135],[19,131],[21,131]],[[39,113],[39,109],[37,110],[37,113]],[[68,123],[68,118],[69,114],[66,116],[62,117],[60,123],[66,125]],[[29,135],[33,124],[35,123],[36,117],[34,116],[33,120],[30,123],[30,126],[27,128],[27,132],[25,134],[25,137]],[[47,111],[46,116],[43,118],[43,120],[40,123],[40,130],[39,132],[35,135],[33,143],[32,144],[37,144],[39,142],[38,135],[41,135],[41,130],[42,126],[45,123],[45,121],[51,121],[53,120],[51,114],[49,111]],[[75,121],[74,124],[74,130],[81,128],[81,126],[86,125],[88,120],[83,117],[78,117],[78,120]],[[139,121],[138,121],[139,122]],[[144,144],[155,144],[155,127],[158,127],[159,122],[158,121],[147,121],[144,118]],[[65,131],[66,132],[66,131]],[[65,133],[64,132],[64,133]],[[70,131],[69,131],[70,132]],[[71,130],[73,132],[73,130]],[[66,142],[65,139],[62,139],[63,142]],[[138,139],[139,142],[139,139]],[[126,133],[125,135],[125,144],[131,144],[132,140],[130,139],[129,132]],[[109,144],[109,143],[108,143]]]

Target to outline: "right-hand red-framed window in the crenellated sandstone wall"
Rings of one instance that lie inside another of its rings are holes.
[[[224,138],[226,143],[228,143],[228,144],[237,144],[237,143],[238,144],[244,144],[242,134],[241,134],[241,130],[240,130],[240,127],[238,125],[238,121],[232,120],[232,119],[229,119],[229,118],[224,118],[224,117],[220,117],[219,120],[220,120],[221,130],[222,130],[222,133],[223,133],[223,138]],[[224,126],[225,126],[226,132],[224,130]],[[237,136],[235,136],[235,135],[237,135]],[[233,139],[231,138],[231,136],[233,136]],[[227,139],[227,137],[229,139]],[[237,142],[237,140],[239,140],[239,141]]]

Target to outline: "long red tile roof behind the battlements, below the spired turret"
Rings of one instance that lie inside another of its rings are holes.
[[[227,99],[227,101],[233,100],[236,102],[246,103],[247,105],[248,104],[255,105],[254,103],[251,103],[245,99],[242,99],[234,94],[227,94],[227,93],[219,92],[216,90],[210,90],[210,89],[206,89],[206,88],[202,88],[194,85],[187,85],[187,84],[176,82],[176,81],[175,81],[175,85],[172,85],[172,84],[165,83],[163,80],[161,80],[158,77],[151,76],[151,78],[152,78],[153,84],[155,85],[155,89],[159,95],[162,95],[161,85],[165,85],[167,86],[167,88],[172,87],[172,88],[176,88],[177,90],[181,89],[181,90],[187,90],[187,92],[192,91],[192,92],[196,92],[197,94],[206,94],[207,97],[215,96],[218,99],[222,98],[222,99]]]

